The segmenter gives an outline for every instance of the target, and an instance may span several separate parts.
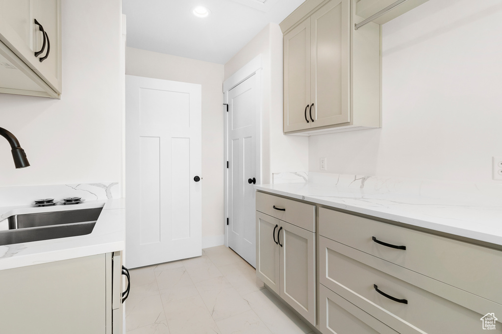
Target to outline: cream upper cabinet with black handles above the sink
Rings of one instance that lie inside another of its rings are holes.
[[[0,92],[60,97],[61,0],[0,0]]]

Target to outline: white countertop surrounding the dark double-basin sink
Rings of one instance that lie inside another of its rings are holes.
[[[124,249],[124,222],[126,219],[125,200],[123,198],[89,200],[78,204],[79,209],[91,207],[103,207],[103,210],[90,234],[0,246],[0,270],[122,251]],[[13,214],[76,208],[75,205],[56,205],[43,208],[0,207],[0,221]]]

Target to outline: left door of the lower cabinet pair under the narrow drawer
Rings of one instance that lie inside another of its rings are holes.
[[[256,275],[279,294],[279,245],[277,240],[280,220],[256,211]],[[276,228],[277,226],[277,228]]]

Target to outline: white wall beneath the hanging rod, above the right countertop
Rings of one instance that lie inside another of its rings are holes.
[[[363,29],[363,28],[361,28]],[[502,3],[430,0],[383,26],[383,125],[309,139],[309,171],[491,181]]]

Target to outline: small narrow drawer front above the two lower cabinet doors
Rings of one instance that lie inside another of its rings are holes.
[[[256,209],[302,229],[315,232],[315,205],[257,192]]]

